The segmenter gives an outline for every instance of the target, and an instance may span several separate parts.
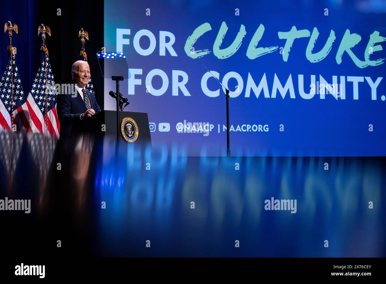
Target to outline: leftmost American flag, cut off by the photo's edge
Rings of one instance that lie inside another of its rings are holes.
[[[18,72],[15,55],[10,53],[0,80],[0,131],[30,129],[28,117],[23,111],[26,101]]]

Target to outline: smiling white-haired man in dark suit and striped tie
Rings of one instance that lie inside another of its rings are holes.
[[[60,136],[70,136],[71,128],[82,120],[100,112],[95,96],[85,89],[90,82],[90,66],[86,61],[76,61],[71,68],[75,94],[58,95],[56,110],[60,122]]]

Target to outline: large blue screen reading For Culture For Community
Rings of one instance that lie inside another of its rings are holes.
[[[149,114],[153,146],[225,155],[225,89],[206,66],[230,90],[232,155],[384,156],[374,3],[106,1],[102,50],[126,55],[125,110]],[[114,89],[105,79],[105,109]]]

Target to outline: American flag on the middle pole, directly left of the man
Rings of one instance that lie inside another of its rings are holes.
[[[54,76],[48,54],[43,51],[40,68],[37,70],[31,91],[27,96],[29,123],[32,132],[59,139],[60,124],[56,113],[58,91],[55,88]]]

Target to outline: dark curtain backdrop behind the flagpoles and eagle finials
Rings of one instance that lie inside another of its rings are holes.
[[[83,4],[86,3],[86,4]],[[60,10],[60,14],[58,15]],[[2,27],[10,20],[19,27],[19,34],[12,38],[12,45],[17,48],[16,65],[24,94],[27,96],[32,81],[39,68],[42,40],[37,29],[40,24],[49,26],[51,36],[47,36],[46,46],[54,75],[55,83],[71,83],[71,65],[81,60],[81,43],[78,32],[83,27],[88,31],[90,40],[85,48],[90,64],[91,79],[98,104],[103,109],[103,80],[97,62],[96,53],[103,46],[103,1],[80,2],[18,0],[0,3]],[[8,62],[7,46],[9,38],[2,32],[0,36],[0,73],[2,75]]]

